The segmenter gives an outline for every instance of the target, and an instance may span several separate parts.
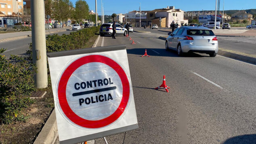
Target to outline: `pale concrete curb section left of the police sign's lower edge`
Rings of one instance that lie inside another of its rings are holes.
[[[53,109],[50,117],[47,119],[44,127],[38,134],[34,144],[53,144],[58,136],[58,128],[56,121],[55,109]]]

